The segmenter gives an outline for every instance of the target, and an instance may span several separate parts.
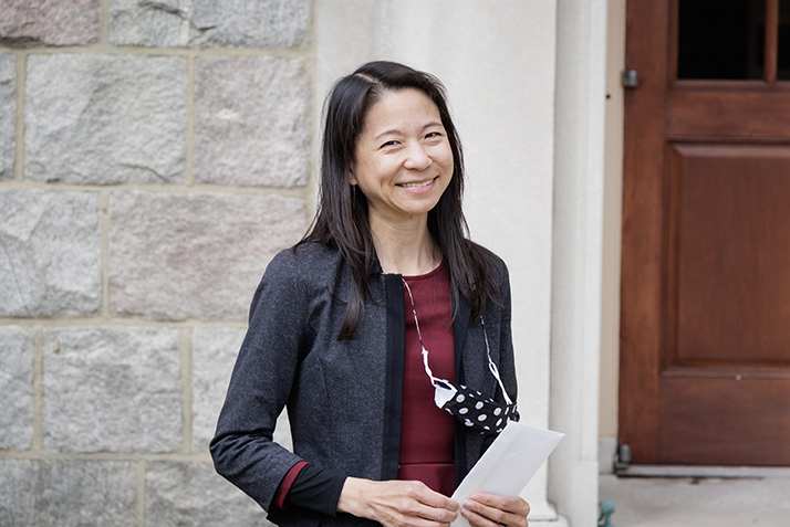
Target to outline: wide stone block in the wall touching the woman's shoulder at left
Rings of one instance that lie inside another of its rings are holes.
[[[306,228],[279,196],[116,192],[110,200],[115,315],[245,320],[269,260]]]

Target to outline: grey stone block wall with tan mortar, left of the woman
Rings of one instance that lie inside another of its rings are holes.
[[[0,525],[261,525],[216,417],[314,183],[310,0],[7,0]]]

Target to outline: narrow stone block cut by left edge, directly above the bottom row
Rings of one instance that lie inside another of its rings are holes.
[[[33,334],[0,327],[0,450],[30,447],[33,436]]]

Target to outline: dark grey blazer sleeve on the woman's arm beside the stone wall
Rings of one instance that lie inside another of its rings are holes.
[[[209,446],[217,472],[266,510],[284,475],[303,461],[272,441],[305,346],[309,305],[295,266],[293,253],[283,251],[256,291],[247,336]]]

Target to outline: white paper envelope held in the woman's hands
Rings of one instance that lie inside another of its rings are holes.
[[[560,432],[509,422],[458,485],[453,499],[462,505],[478,491],[518,496],[564,436]],[[469,523],[458,515],[451,526],[469,527]]]

